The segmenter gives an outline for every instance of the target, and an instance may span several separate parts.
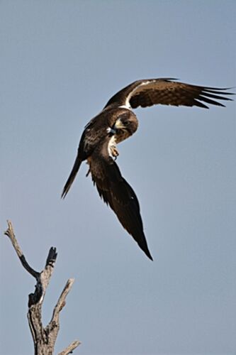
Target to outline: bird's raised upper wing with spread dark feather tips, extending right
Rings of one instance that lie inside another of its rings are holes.
[[[149,80],[137,80],[121,89],[106,104],[106,107],[125,106],[136,109],[157,104],[172,106],[198,106],[208,109],[206,104],[224,107],[217,100],[230,100],[222,95],[232,95],[225,92],[227,88],[201,87],[197,85],[176,82],[176,79],[161,78]],[[205,102],[206,104],[203,104]]]

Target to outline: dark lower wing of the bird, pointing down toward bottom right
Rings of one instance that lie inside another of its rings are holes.
[[[100,197],[116,213],[120,223],[152,260],[140,216],[140,205],[133,188],[122,177],[118,165],[107,153],[108,144],[96,149],[88,159],[92,180]]]

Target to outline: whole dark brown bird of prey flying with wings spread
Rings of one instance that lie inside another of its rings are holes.
[[[85,126],[72,172],[64,185],[62,198],[67,195],[82,161],[87,160],[89,173],[100,197],[116,213],[122,226],[145,252],[152,256],[143,231],[140,206],[133,188],[123,178],[116,163],[116,145],[135,133],[137,117],[132,109],[164,104],[202,107],[207,104],[224,107],[215,100],[231,100],[225,88],[201,87],[173,78],[137,80],[109,99],[103,110]]]

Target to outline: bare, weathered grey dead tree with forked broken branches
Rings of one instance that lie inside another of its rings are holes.
[[[54,352],[57,334],[60,329],[60,311],[65,305],[65,299],[67,297],[67,294],[69,293],[69,290],[72,288],[74,279],[69,278],[69,280],[67,281],[67,284],[64,286],[64,290],[62,291],[57,301],[57,305],[55,305],[54,310],[52,312],[52,319],[46,327],[43,327],[41,310],[47,285],[50,282],[55,261],[57,259],[56,248],[50,248],[43,271],[38,272],[33,270],[33,268],[31,268],[28,262],[26,261],[26,258],[23,255],[20,246],[18,245],[18,241],[16,240],[16,236],[14,234],[11,222],[8,221],[7,223],[9,227],[5,231],[6,236],[9,236],[9,239],[11,240],[13,248],[15,249],[18,258],[20,259],[22,266],[36,280],[35,292],[30,293],[30,295],[28,295],[27,314],[30,332],[33,337],[35,355],[51,355]],[[72,353],[72,351],[76,349],[79,344],[80,342],[78,340],[75,340],[74,342],[69,344],[66,349],[61,351],[59,355],[67,355]]]

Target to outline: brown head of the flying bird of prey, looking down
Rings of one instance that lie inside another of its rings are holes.
[[[113,130],[116,132],[116,143],[124,141],[124,139],[132,136],[137,131],[138,121],[133,112],[125,112],[121,114],[113,125]]]

